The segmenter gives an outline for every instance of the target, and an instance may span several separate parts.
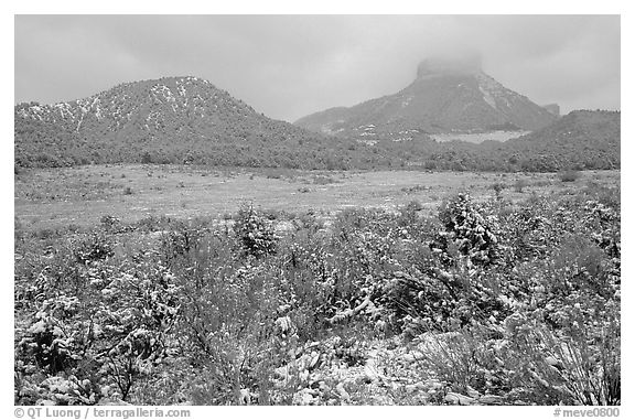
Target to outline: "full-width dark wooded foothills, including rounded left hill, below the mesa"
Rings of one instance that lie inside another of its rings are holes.
[[[122,84],[69,103],[15,106],[15,166],[143,162],[326,170],[620,168],[620,112],[574,111],[519,139],[481,144],[437,142],[423,129],[381,125],[380,117],[377,125],[370,122],[348,137],[323,136],[269,119],[208,82],[166,77]]]

